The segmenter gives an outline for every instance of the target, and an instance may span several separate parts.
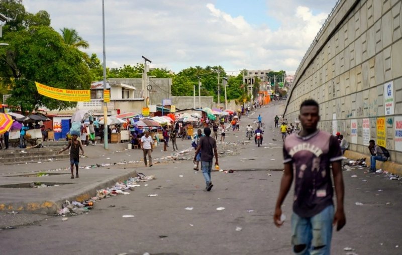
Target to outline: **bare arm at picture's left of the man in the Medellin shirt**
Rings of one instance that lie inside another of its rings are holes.
[[[291,162],[289,162],[284,165],[283,176],[280,181],[279,195],[276,200],[275,213],[273,215],[273,222],[277,227],[280,227],[283,224],[283,222],[281,222],[280,220],[280,215],[282,214],[282,209],[280,207],[282,206],[282,203],[285,200],[287,193],[289,192],[289,189],[292,185],[292,181],[293,181],[293,171]]]

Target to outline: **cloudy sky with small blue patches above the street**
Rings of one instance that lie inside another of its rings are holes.
[[[106,63],[294,73],[337,0],[105,0]],[[101,0],[23,0],[51,26],[74,28],[102,61]],[[233,73],[236,74],[236,73]]]

